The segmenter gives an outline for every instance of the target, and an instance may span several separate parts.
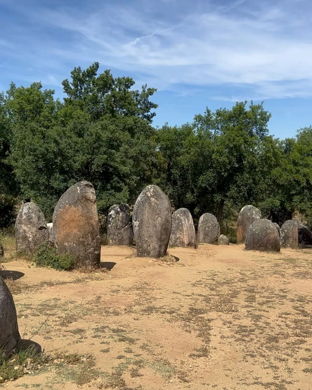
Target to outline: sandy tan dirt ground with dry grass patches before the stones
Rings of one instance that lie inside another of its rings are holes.
[[[312,388],[311,249],[267,254],[200,245],[169,253],[174,261],[102,246],[110,270],[92,274],[4,263],[6,275],[18,278],[9,285],[21,336],[47,353],[94,360],[2,386]]]

